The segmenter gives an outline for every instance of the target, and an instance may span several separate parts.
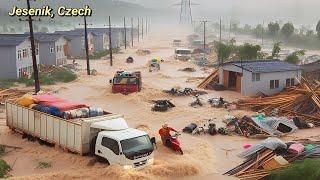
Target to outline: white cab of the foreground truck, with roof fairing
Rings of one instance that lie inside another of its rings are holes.
[[[95,140],[95,155],[110,165],[142,169],[153,164],[154,138],[144,131],[128,128],[124,119],[96,122],[91,128],[101,130]]]

